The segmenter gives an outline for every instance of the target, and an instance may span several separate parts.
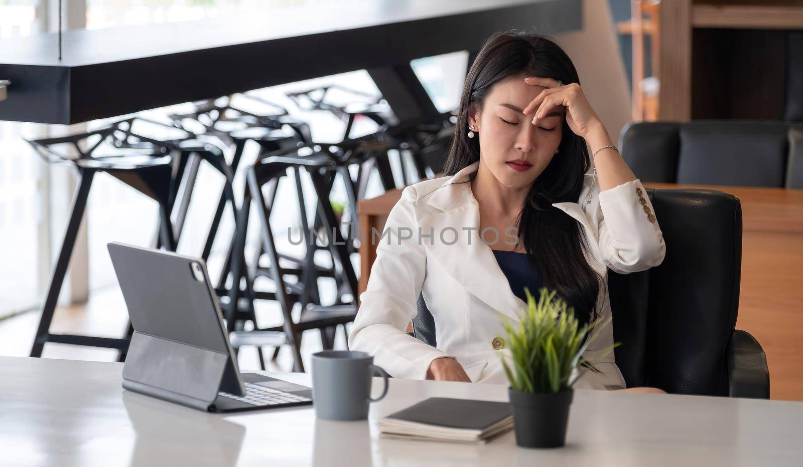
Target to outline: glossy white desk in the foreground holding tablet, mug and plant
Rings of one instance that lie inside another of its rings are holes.
[[[121,363],[0,357],[0,465],[800,465],[803,402],[577,391],[563,449],[377,438],[429,396],[507,400],[498,385],[391,380],[369,422],[312,408],[221,416],[120,388]],[[308,384],[308,375],[271,374]],[[381,380],[374,380],[378,391]],[[376,394],[375,394],[376,396]]]

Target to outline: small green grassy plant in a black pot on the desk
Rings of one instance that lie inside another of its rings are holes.
[[[503,323],[511,361],[502,354],[502,363],[510,381],[507,392],[516,444],[556,448],[565,444],[574,382],[585,372],[599,371],[582,354],[609,320],[601,323],[596,319],[580,326],[573,308],[555,292],[541,289],[536,302],[529,290],[524,291],[528,307],[518,326],[509,320]],[[577,376],[570,380],[575,368]]]

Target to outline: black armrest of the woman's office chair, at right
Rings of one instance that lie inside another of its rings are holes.
[[[752,335],[738,329],[728,346],[728,396],[769,399],[767,355]]]

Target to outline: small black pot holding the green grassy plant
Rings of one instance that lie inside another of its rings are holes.
[[[574,391],[518,392],[507,388],[513,409],[516,444],[524,448],[559,448],[565,445],[569,406]]]

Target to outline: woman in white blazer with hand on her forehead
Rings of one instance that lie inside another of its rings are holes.
[[[586,144],[591,148],[589,153]],[[404,189],[389,213],[349,345],[391,376],[507,384],[502,321],[524,286],[556,290],[581,322],[608,319],[607,270],[660,264],[664,243],[640,181],[583,95],[569,56],[518,32],[488,39],[468,72],[446,177]],[[419,293],[438,347],[406,334]],[[613,323],[575,388],[621,389]]]

